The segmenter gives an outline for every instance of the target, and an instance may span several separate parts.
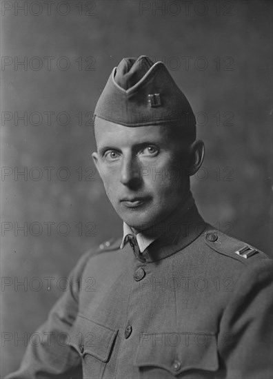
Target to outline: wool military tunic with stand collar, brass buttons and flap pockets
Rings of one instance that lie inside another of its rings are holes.
[[[77,365],[85,379],[272,378],[272,260],[195,205],[180,216],[143,254],[121,239],[85,254],[39,329],[50,344],[32,341],[8,378],[66,379]]]

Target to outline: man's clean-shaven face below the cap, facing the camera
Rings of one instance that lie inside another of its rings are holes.
[[[167,127],[126,127],[96,118],[94,128],[94,163],[125,223],[147,229],[183,204],[189,190],[185,147]]]

